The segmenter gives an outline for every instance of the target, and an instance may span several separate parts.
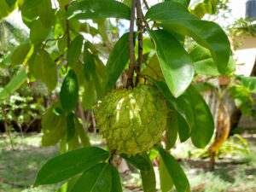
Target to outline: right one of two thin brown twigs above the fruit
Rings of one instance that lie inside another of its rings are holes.
[[[143,64],[143,11],[141,0],[137,0],[136,3],[137,8],[137,26],[138,26],[138,59],[137,59],[137,67],[136,67],[136,82],[135,86],[139,84],[141,78],[141,68]]]

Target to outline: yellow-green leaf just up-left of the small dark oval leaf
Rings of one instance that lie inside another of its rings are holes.
[[[35,53],[31,62],[32,73],[34,74],[35,78],[43,81],[48,88],[48,93],[50,93],[55,89],[58,79],[55,62],[50,57],[49,53],[44,49]]]

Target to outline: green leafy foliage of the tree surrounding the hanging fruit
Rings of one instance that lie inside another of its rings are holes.
[[[58,4],[54,6],[50,0],[12,2],[18,5],[22,20],[30,30],[28,41],[23,42],[11,55],[12,64],[26,68],[26,77],[30,81],[39,79],[44,82],[49,93],[58,90],[56,86],[61,82],[60,98],[44,114],[42,145],[60,143],[62,154],[42,167],[35,186],[66,180],[67,183],[61,189],[72,186],[66,191],[84,191],[85,185],[85,190],[88,191],[122,191],[120,184],[113,185],[119,183],[113,157],[116,149],[121,146],[108,148],[108,151],[90,147],[89,138],[84,131],[84,112],[81,112],[79,106],[81,98],[84,110],[93,108],[98,101],[104,102],[102,97],[115,88],[124,71],[127,74],[126,88],[133,89],[138,84],[143,84],[143,77],[166,97],[168,113],[176,117],[176,123],[173,123],[176,127],[172,129],[171,125],[168,126],[168,149],[174,145],[177,134],[182,142],[191,138],[197,148],[205,148],[210,142],[214,129],[212,114],[198,90],[191,84],[198,71],[195,70],[193,56],[184,48],[183,42],[184,37],[189,36],[196,44],[207,49],[210,55],[210,61],[205,63],[208,73],[227,75],[234,70],[232,62],[231,65],[229,62],[230,42],[223,29],[212,21],[195,16],[199,15],[199,8],[204,4],[213,7],[212,12],[210,9],[203,9],[202,14],[212,14],[216,4],[203,1],[203,4],[195,6],[189,12],[189,1],[165,1],[149,8],[143,17],[138,0],[126,4],[115,0],[58,0]],[[133,26],[135,7],[138,32],[134,31]],[[4,8],[0,7],[0,13]],[[9,15],[9,12],[5,15]],[[113,30],[113,26],[106,25],[109,18],[117,20],[113,33],[108,32]],[[131,23],[130,32],[120,38],[119,19],[129,20]],[[96,23],[96,27],[88,20]],[[101,44],[92,44],[86,37],[88,34],[100,37]],[[115,44],[110,43],[110,36],[113,34]],[[157,57],[152,57],[154,54]],[[102,62],[104,58],[108,59],[106,67]],[[148,62],[151,66],[148,66]],[[142,76],[142,68],[152,71],[154,68],[160,69],[154,75],[162,79],[155,80],[148,73],[147,76]],[[10,85],[5,87],[8,94],[20,85],[15,82],[12,79]],[[146,102],[145,105],[150,103]],[[170,118],[172,116],[163,120]],[[148,123],[152,120],[148,119]],[[162,124],[163,128],[164,125],[166,124]],[[162,166],[164,165],[161,174],[168,175],[178,192],[190,191],[189,180],[177,160],[160,143],[155,147],[160,154]],[[148,152],[143,151],[142,154],[131,157],[127,154],[121,156],[141,171],[144,191],[153,192],[155,174]],[[147,169],[144,169],[145,165],[148,165]],[[171,189],[172,186],[166,184],[170,181],[162,179],[161,185]]]

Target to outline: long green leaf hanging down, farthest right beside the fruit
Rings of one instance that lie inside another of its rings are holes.
[[[214,131],[214,120],[212,113],[201,96],[193,85],[187,90],[190,103],[194,108],[195,123],[192,128],[191,140],[197,148],[205,148],[212,138]]]

